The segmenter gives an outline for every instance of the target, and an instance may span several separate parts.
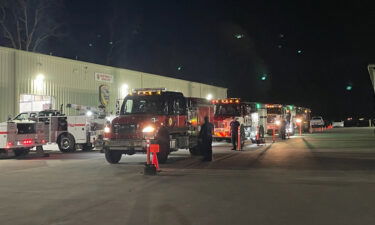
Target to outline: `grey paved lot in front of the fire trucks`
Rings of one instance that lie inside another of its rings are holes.
[[[1,159],[0,224],[375,224],[373,128],[230,148],[209,163],[180,150],[157,176],[145,155]]]

